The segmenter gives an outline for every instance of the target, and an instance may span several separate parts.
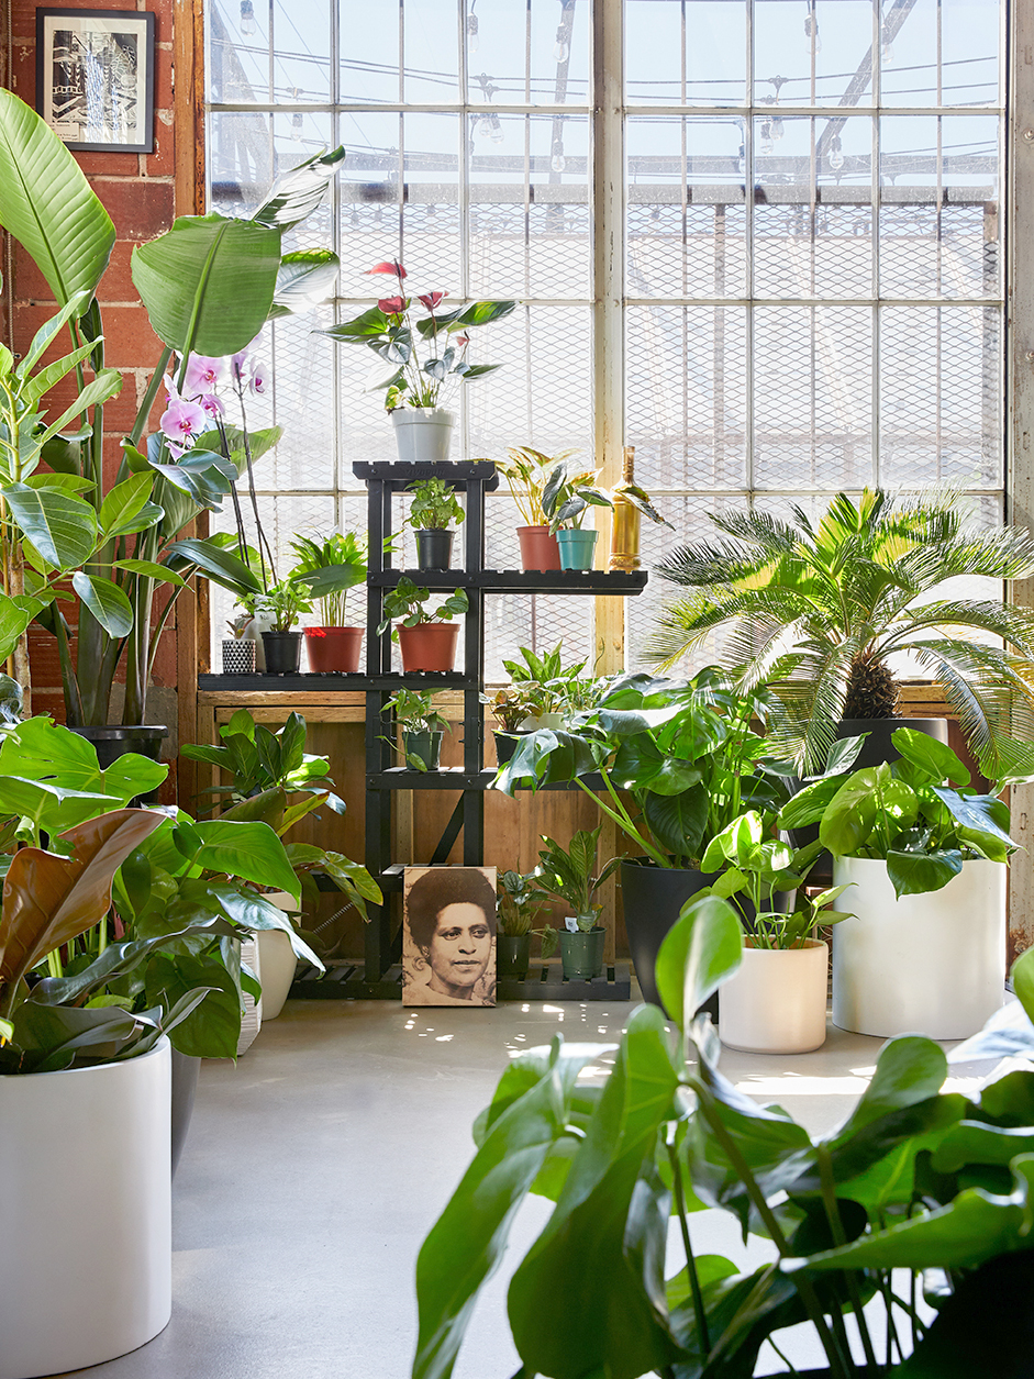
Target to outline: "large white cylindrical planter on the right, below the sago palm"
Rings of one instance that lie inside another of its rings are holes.
[[[969,1038],[1005,994],[1005,867],[964,862],[940,891],[903,895],[886,863],[837,858],[833,1023],[859,1034]]]

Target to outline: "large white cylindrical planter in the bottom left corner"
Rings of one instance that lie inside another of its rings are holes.
[[[114,1360],[172,1309],[170,1044],[0,1077],[0,1379]]]

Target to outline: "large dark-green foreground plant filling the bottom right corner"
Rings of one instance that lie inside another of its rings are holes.
[[[556,1036],[511,1059],[416,1262],[414,1379],[452,1373],[529,1193],[554,1205],[507,1294],[521,1376],[746,1379],[762,1346],[795,1373],[782,1333],[798,1324],[830,1379],[1030,1373],[1034,1071],[946,1091],[944,1051],[906,1034],[842,1124],[812,1136],[722,1076],[710,1018],[693,1016],[742,942],[727,900],[687,905],[658,958],[674,1033],[640,1005],[616,1047]],[[964,1058],[1034,1055],[1034,952],[1013,982],[1026,1015]],[[698,1254],[688,1215],[703,1208],[771,1262]]]

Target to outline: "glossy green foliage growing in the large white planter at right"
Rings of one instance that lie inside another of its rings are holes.
[[[968,767],[943,742],[898,728],[900,760],[834,772],[794,796],[779,815],[784,829],[819,825],[834,856],[877,858],[896,895],[939,891],[971,858],[1008,862],[1009,807],[971,785]],[[1034,745],[1000,739],[997,787],[1034,776]]]

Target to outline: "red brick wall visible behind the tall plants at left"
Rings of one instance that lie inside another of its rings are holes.
[[[26,0],[8,0],[11,12],[11,52],[4,66],[4,84],[28,105],[36,101],[36,6]],[[62,0],[66,8],[84,10],[152,10],[156,15],[154,54],[154,152],[153,153],[76,153],[80,167],[108,208],[117,233],[110,266],[101,284],[105,324],[105,364],[123,374],[123,390],[105,408],[105,462],[110,473],[119,462],[119,441],[131,427],[138,400],[150,379],[161,343],[148,323],[130,277],[134,245],[167,230],[174,218],[175,130],[172,116],[172,22],[174,0]],[[3,6],[0,6],[0,12]],[[18,245],[12,252],[14,320],[4,335],[21,353],[33,331],[54,313],[50,290],[33,262]],[[7,268],[6,268],[7,273]],[[11,288],[6,291],[8,296]],[[4,302],[7,308],[8,302]],[[7,310],[4,312],[4,317]],[[74,396],[74,393],[72,394]],[[51,405],[59,405],[55,390]],[[157,410],[156,414],[157,416]],[[185,597],[190,597],[186,594]],[[70,607],[70,605],[66,605]],[[154,665],[154,685],[176,684],[176,629],[171,627]],[[30,633],[33,710],[63,718],[61,674],[55,643],[45,633]]]

